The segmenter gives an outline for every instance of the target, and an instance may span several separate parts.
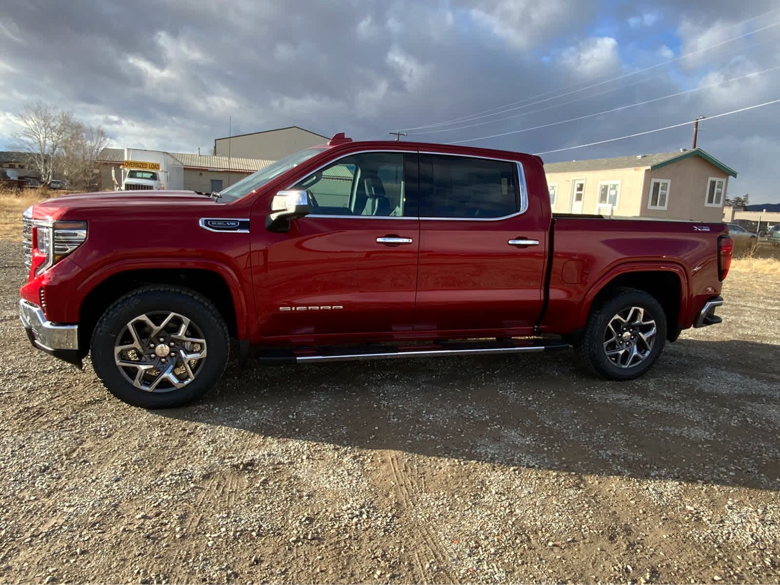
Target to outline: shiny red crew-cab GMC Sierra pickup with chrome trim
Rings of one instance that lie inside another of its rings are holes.
[[[239,360],[317,362],[574,346],[644,374],[720,322],[722,223],[552,215],[541,158],[337,134],[222,193],[57,197],[23,218],[20,317],[38,349],[147,408]]]

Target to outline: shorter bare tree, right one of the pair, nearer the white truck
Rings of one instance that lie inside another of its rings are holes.
[[[90,190],[97,186],[97,157],[106,146],[108,137],[102,128],[73,122],[60,158],[62,175],[71,189]]]

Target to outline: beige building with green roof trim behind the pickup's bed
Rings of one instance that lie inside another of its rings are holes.
[[[721,222],[736,171],[700,148],[544,165],[554,213]]]

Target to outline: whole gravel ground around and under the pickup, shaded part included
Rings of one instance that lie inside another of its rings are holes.
[[[30,349],[0,242],[2,583],[778,583],[780,280],[626,383],[572,352],[239,368],[147,412]]]

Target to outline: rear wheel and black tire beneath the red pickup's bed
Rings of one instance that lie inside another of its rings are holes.
[[[624,318],[626,324],[621,321]],[[637,324],[641,321],[648,324]],[[655,330],[652,336],[650,321]],[[654,296],[636,289],[616,289],[614,296],[590,310],[575,349],[597,376],[633,380],[658,360],[666,341],[666,327],[666,314]]]

